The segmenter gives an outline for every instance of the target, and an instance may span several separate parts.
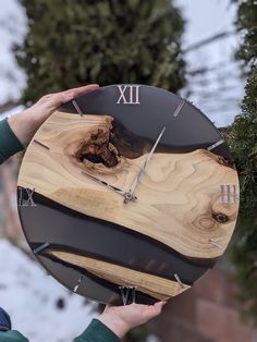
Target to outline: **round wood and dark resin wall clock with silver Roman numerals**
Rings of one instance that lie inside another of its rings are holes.
[[[60,107],[30,142],[17,185],[24,233],[48,273],[115,305],[189,289],[223,254],[238,211],[219,131],[188,101],[145,85]]]

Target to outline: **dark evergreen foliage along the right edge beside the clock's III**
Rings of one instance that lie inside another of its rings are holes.
[[[228,133],[241,181],[241,210],[231,259],[245,317],[257,323],[257,1],[237,2],[237,27],[245,37],[236,57],[244,61],[249,77],[242,114]]]

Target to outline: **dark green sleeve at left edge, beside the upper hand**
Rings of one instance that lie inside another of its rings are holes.
[[[0,121],[0,164],[9,157],[23,150],[24,146],[11,130],[8,120]]]

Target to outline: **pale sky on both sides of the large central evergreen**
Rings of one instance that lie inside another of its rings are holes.
[[[224,30],[233,30],[236,9],[231,0],[175,0],[186,19],[184,47]],[[26,16],[17,0],[1,3],[0,12],[0,103],[19,97],[25,86],[25,75],[16,66],[10,51],[13,42],[26,33]],[[211,68],[205,75],[189,76],[188,86],[181,93],[199,107],[217,125],[227,125],[240,113],[244,81],[233,53],[238,38],[217,42],[188,52],[187,70]],[[219,68],[217,68],[219,66]],[[8,78],[12,76],[11,81]]]

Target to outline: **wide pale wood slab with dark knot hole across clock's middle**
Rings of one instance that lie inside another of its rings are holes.
[[[238,210],[238,198],[222,203],[221,185],[235,185],[238,197],[236,171],[208,150],[157,150],[136,187],[138,199],[124,204],[122,196],[82,173],[85,170],[113,186],[130,190],[150,145],[138,138],[136,149],[127,133],[122,136],[130,139],[131,146],[119,143],[112,124],[109,115],[54,112],[28,146],[19,185],[35,188],[76,211],[154,237],[184,256],[220,256],[231,239]],[[94,141],[100,144],[95,146]]]

